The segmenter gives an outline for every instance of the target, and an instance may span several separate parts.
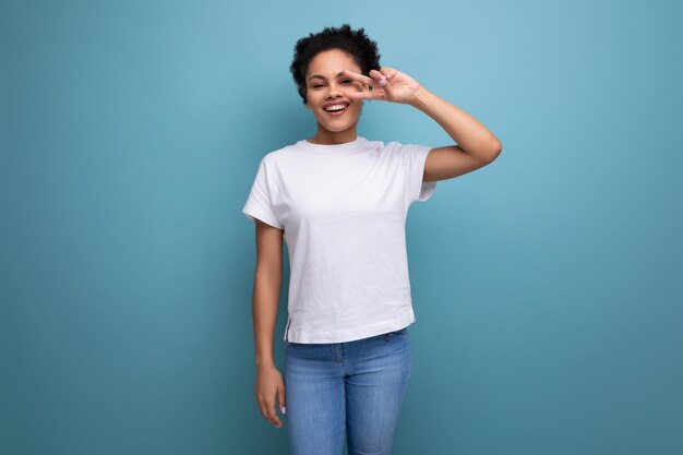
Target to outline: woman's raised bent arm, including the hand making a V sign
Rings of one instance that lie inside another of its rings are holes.
[[[501,141],[477,119],[406,73],[388,67],[371,70],[370,77],[346,72],[368,88],[348,93],[349,97],[410,105],[434,119],[456,143],[432,148],[424,164],[424,181],[452,179],[481,168],[492,163],[503,149]]]

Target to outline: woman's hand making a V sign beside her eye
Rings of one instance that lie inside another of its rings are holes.
[[[416,100],[416,93],[420,88],[415,79],[388,67],[382,67],[380,71],[370,70],[370,77],[350,70],[344,70],[344,73],[370,87],[362,92],[345,91],[345,95],[351,99],[381,99],[409,105]]]

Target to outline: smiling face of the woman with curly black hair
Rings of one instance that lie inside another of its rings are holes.
[[[309,63],[305,74],[307,103],[317,120],[319,129],[338,133],[355,129],[362,108],[362,99],[347,98],[343,91],[362,92],[363,84],[340,74],[342,70],[360,73],[354,58],[339,49],[317,53]],[[343,110],[328,111],[325,107],[345,106]]]

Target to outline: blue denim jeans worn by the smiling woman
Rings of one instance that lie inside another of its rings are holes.
[[[388,455],[412,358],[408,327],[346,343],[286,342],[291,455]]]

